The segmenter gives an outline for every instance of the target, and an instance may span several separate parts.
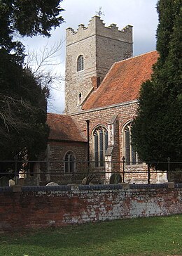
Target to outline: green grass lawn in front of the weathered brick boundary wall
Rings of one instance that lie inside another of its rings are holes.
[[[0,255],[182,255],[182,215],[1,234]]]

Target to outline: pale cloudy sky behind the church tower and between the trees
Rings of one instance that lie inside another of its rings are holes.
[[[66,28],[72,27],[76,31],[80,24],[87,27],[90,19],[96,15],[101,6],[102,12],[104,12],[102,20],[106,26],[115,23],[119,30],[126,25],[133,26],[134,56],[137,56],[155,50],[155,34],[158,26],[156,4],[157,0],[63,0],[61,6],[65,10],[62,12],[65,22],[52,31],[52,37],[50,39],[42,37],[24,39],[23,44],[31,51],[32,49],[43,49],[47,43],[47,47],[51,48],[53,44],[62,41],[62,48],[57,54],[59,58],[57,70],[64,75]],[[51,104],[48,107],[48,112],[62,113],[64,110],[64,82],[59,90],[52,91]]]

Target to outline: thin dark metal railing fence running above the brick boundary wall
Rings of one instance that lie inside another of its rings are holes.
[[[120,174],[122,182],[126,181],[126,177],[130,175],[139,176],[142,174],[147,175],[147,183],[151,183],[151,176],[153,174],[167,173],[169,176],[179,176],[179,182],[182,182],[182,162],[172,162],[167,159],[164,162],[150,161],[147,163],[141,162],[126,162],[125,158],[121,161],[104,161],[103,167],[95,167],[94,161],[73,161],[71,162],[73,169],[66,172],[65,165],[70,162],[62,160],[49,160],[49,161],[25,161],[22,160],[1,160],[0,161],[0,179],[1,177],[8,177],[9,179],[19,179],[22,175],[25,177],[43,177],[50,175],[52,181],[56,181],[56,177],[64,175],[70,182],[76,182],[77,180],[84,179],[90,174],[94,174],[96,177],[101,177],[102,180],[106,177],[111,177],[112,174]],[[35,168],[35,165],[38,167]],[[161,166],[163,169],[158,169]],[[107,166],[110,168],[107,168]],[[155,168],[153,167],[155,166]],[[54,180],[55,177],[55,180]],[[1,186],[1,182],[0,182]]]

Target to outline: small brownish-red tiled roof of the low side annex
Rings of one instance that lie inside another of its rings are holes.
[[[78,126],[69,115],[48,113],[47,124],[50,127],[50,134],[48,138],[50,140],[87,141],[85,136],[80,132]]]

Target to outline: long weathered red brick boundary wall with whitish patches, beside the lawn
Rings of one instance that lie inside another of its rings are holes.
[[[0,231],[180,214],[182,186],[170,185],[0,188]]]

